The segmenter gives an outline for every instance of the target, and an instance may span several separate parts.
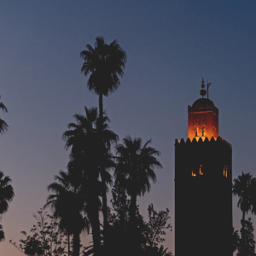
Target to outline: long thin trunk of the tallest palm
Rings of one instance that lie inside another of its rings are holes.
[[[99,112],[100,112],[100,145],[101,145],[101,162],[100,162],[100,171],[104,172],[104,166],[102,163],[103,154],[104,154],[104,140],[103,140],[103,95],[100,93],[99,95]],[[102,184],[105,187],[106,181],[105,178],[102,177]],[[108,201],[107,201],[107,189],[104,188],[102,191],[102,213],[103,213],[103,236],[104,236],[104,245],[108,246]]]

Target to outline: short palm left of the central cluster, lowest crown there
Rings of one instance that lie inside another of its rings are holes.
[[[61,228],[67,230],[68,236],[73,234],[73,256],[79,256],[80,233],[89,229],[85,217],[83,173],[76,171],[69,166],[67,172],[60,171],[59,175],[55,176],[55,182],[47,187],[53,194],[48,196],[44,206],[51,207],[54,216],[61,219]]]

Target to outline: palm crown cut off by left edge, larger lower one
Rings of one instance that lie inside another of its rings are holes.
[[[9,176],[0,171],[0,216],[9,209],[9,202],[14,199],[15,192]]]

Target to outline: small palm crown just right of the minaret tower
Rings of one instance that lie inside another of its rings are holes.
[[[252,190],[256,183],[256,179],[250,173],[243,173],[234,178],[234,183],[232,186],[233,195],[237,195],[239,200],[237,202],[237,207],[241,209],[242,220],[245,220],[245,215],[252,210]]]

